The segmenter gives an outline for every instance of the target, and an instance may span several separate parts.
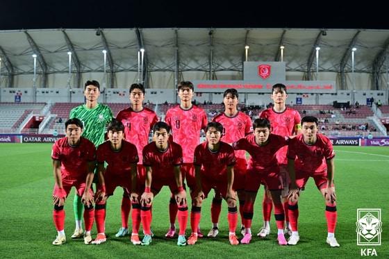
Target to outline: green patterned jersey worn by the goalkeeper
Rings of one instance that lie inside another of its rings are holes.
[[[78,118],[83,122],[83,137],[93,142],[96,147],[104,142],[106,126],[113,119],[109,106],[97,103],[97,106],[90,109],[85,106],[77,106],[70,111],[69,118]]]

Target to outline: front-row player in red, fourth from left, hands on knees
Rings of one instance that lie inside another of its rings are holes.
[[[190,212],[190,226],[192,234],[188,244],[196,244],[198,226],[201,217],[201,203],[211,189],[217,189],[229,206],[229,241],[239,244],[235,235],[238,224],[238,210],[236,195],[233,190],[233,166],[235,153],[226,142],[220,141],[223,126],[219,122],[210,122],[206,127],[206,142],[199,144],[195,149],[195,175],[197,190],[192,193],[192,212]]]

